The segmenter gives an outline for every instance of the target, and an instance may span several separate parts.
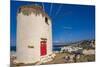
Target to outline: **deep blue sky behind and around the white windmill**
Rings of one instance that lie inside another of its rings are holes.
[[[95,38],[95,6],[41,2],[11,2],[11,45],[16,45],[16,14],[22,5],[38,4],[52,19],[53,42]]]

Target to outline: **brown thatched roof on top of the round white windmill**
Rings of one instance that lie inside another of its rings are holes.
[[[42,14],[42,16],[48,17],[50,18],[44,11],[43,11],[43,7],[39,6],[39,5],[24,5],[21,6],[18,9],[18,13],[22,12],[24,15],[30,15],[30,14]]]

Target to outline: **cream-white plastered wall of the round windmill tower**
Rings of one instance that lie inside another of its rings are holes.
[[[50,22],[50,21],[49,21]],[[52,34],[42,15],[17,15],[17,60],[21,63],[34,63],[40,60],[40,38],[47,38],[47,55],[52,53]],[[28,48],[33,45],[34,48]]]

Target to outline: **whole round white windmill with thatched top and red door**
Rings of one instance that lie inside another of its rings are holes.
[[[21,6],[17,13],[17,63],[36,63],[52,55],[52,25],[41,6]]]

